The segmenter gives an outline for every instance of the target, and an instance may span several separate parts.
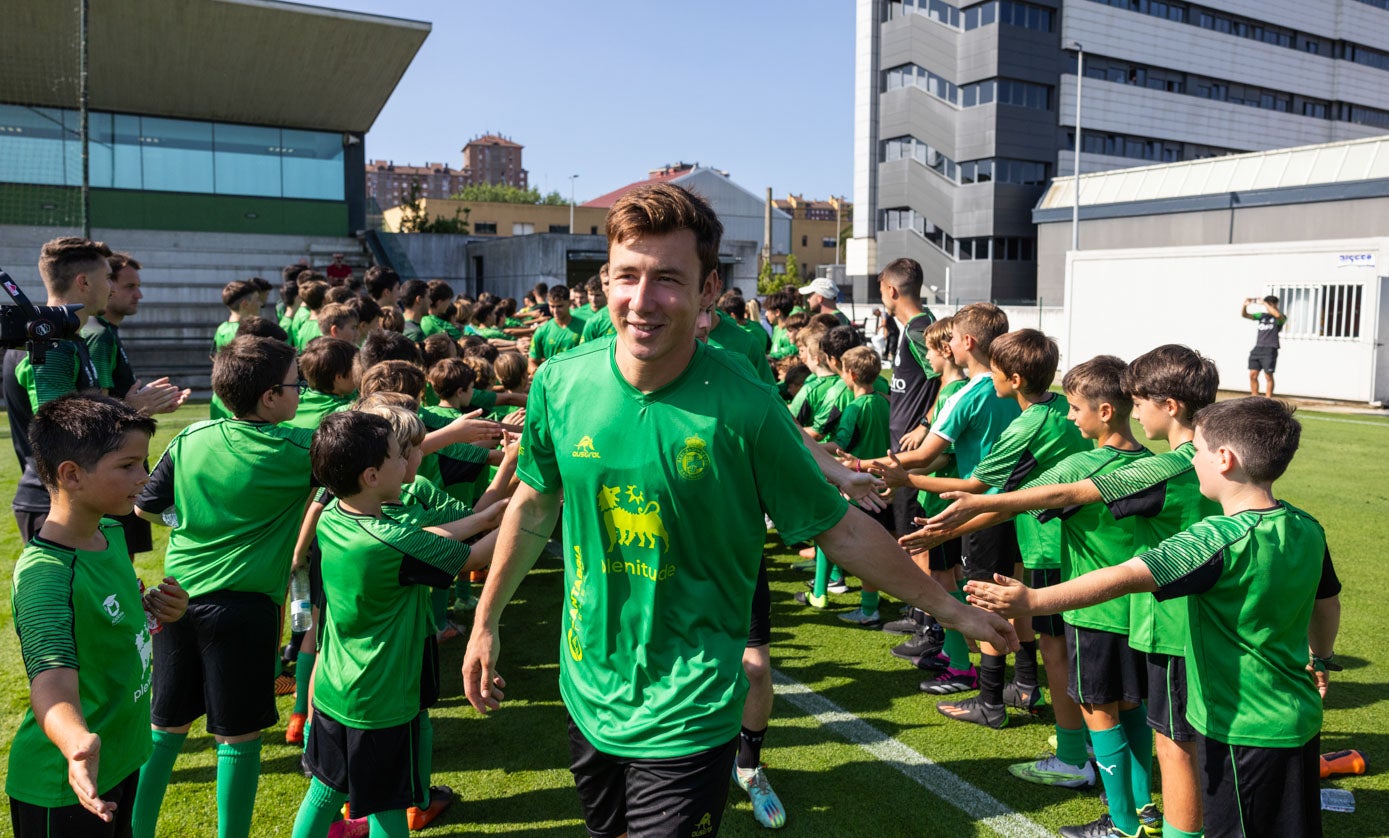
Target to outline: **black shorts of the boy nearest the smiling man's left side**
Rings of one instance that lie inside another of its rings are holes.
[[[419,753],[424,713],[406,724],[347,727],[314,707],[304,762],[328,788],[347,795],[353,817],[410,809],[429,799]]]

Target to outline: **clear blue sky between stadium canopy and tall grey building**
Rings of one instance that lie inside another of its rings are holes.
[[[851,0],[311,0],[433,24],[367,157],[458,165],[504,133],[579,203],[683,160],[824,199],[853,190]]]

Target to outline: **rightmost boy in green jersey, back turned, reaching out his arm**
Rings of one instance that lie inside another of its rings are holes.
[[[1142,592],[1186,607],[1186,714],[1208,835],[1321,835],[1318,731],[1340,582],[1321,525],[1274,495],[1300,432],[1272,399],[1204,407],[1192,464],[1221,514],[1045,591],[1011,580],[970,585],[971,600],[1018,614]]]

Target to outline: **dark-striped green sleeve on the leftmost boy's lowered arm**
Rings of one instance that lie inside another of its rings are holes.
[[[14,577],[14,628],[31,681],[47,670],[78,668],[71,564],[44,553],[21,559]]]

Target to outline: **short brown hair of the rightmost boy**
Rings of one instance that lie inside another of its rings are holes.
[[[1246,396],[1207,404],[1193,422],[1206,447],[1233,449],[1250,479],[1271,484],[1288,471],[1301,442],[1301,422],[1293,411],[1276,399]]]

